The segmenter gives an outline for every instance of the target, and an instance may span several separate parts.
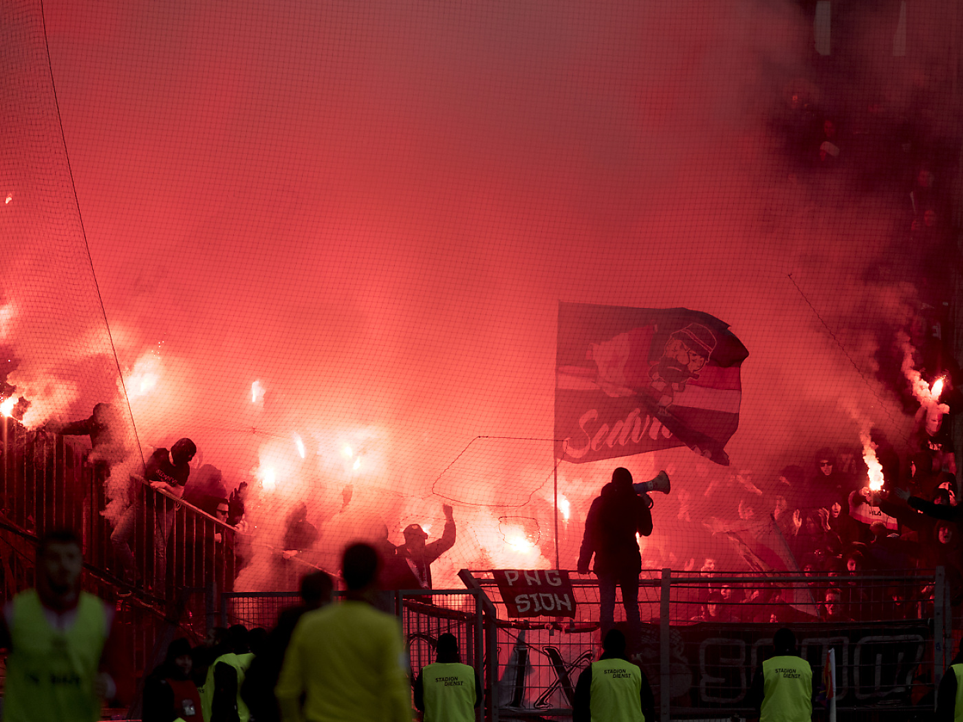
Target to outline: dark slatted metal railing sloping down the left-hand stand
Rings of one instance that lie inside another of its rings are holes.
[[[7,529],[35,539],[76,529],[98,579],[158,607],[183,587],[208,588],[212,599],[232,589],[246,535],[136,475],[112,524],[103,513],[104,464],[89,463],[87,451],[64,436],[12,418],[0,418],[0,431],[0,521]]]

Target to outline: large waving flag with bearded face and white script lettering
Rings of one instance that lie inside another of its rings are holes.
[[[727,323],[687,308],[560,303],[557,458],[685,445],[728,465],[748,353]]]

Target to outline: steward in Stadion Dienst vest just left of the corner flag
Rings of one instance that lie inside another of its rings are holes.
[[[756,669],[747,702],[759,722],[809,722],[813,718],[813,669],[798,657],[795,634],[783,627],[772,638],[772,657]]]

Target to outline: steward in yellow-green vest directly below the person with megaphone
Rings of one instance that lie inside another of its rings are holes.
[[[609,630],[602,657],[579,675],[572,722],[651,722],[655,698],[645,673],[625,657],[625,634]]]

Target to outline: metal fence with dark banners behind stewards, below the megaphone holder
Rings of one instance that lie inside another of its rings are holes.
[[[511,619],[490,572],[462,572],[485,593],[488,677],[497,681],[491,719],[571,715],[575,684],[600,650],[601,630],[597,582],[570,578],[574,618]],[[751,715],[754,674],[782,626],[796,633],[817,687],[835,650],[838,719],[928,719],[952,652],[947,591],[942,569],[766,579],[648,571],[638,595],[640,631],[635,640],[630,633],[630,645],[664,721]],[[629,632],[618,601],[615,622]]]

